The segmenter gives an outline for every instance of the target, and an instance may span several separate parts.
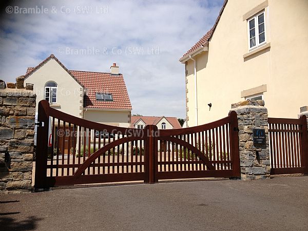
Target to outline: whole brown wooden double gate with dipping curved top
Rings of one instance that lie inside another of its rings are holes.
[[[52,151],[48,152],[51,138]],[[38,103],[35,188],[86,183],[240,177],[236,112],[183,129],[114,127]],[[62,145],[61,145],[62,144]],[[65,144],[65,145],[63,145]]]

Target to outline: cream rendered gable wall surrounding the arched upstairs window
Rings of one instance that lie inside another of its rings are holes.
[[[83,103],[81,103],[83,100],[82,87],[54,59],[50,59],[25,80],[25,83],[34,84],[36,112],[38,102],[45,99],[44,88],[48,81],[54,81],[58,86],[57,103],[54,108],[81,118],[82,109],[80,107],[83,106]]]

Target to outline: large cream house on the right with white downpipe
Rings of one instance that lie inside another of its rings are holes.
[[[246,99],[264,100],[269,117],[297,118],[307,104],[307,11],[306,0],[226,0],[180,59],[187,125],[226,117]]]

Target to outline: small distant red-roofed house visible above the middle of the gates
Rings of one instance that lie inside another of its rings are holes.
[[[143,129],[146,125],[156,125],[158,129],[182,128],[176,117],[143,117],[132,116],[130,128]]]

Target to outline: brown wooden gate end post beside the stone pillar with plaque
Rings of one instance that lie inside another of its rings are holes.
[[[229,112],[230,117],[230,145],[232,150],[233,166],[232,171],[233,177],[240,177],[240,153],[239,153],[239,131],[238,131],[238,120],[237,113],[235,111]]]

